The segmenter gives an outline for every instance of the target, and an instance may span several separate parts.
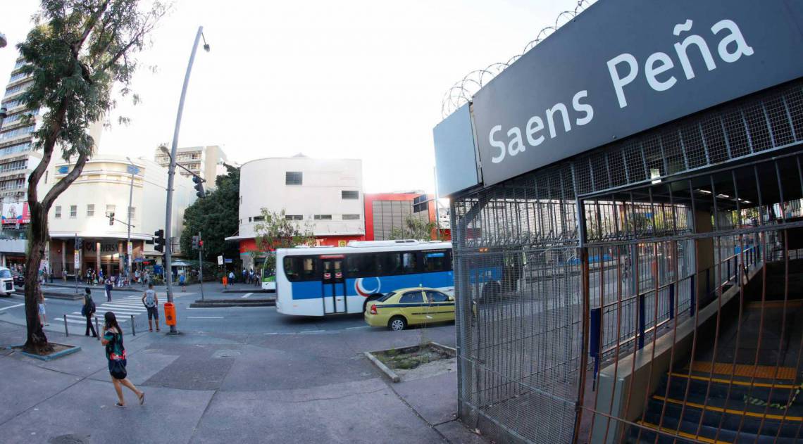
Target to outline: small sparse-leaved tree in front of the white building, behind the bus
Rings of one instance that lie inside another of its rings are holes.
[[[315,245],[315,236],[309,224],[300,226],[287,219],[284,210],[271,212],[262,208],[260,212],[262,222],[254,226],[256,247],[261,252],[271,252],[276,248],[293,248],[296,245]],[[263,270],[273,272],[276,269],[276,256],[269,254],[265,257]]]

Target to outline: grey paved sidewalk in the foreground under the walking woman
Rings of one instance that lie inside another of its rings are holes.
[[[24,334],[0,322],[0,345]],[[128,375],[147,402],[126,391],[120,409],[103,347],[49,332],[83,349],[50,362],[0,352],[2,441],[487,442],[454,419],[454,372],[393,384],[361,355],[420,334],[126,334]],[[454,329],[426,335],[454,345]]]

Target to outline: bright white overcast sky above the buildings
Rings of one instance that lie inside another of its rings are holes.
[[[0,87],[35,0],[3,0]],[[141,97],[110,111],[100,152],[153,159],[173,137],[181,83],[198,50],[179,147],[222,145],[230,162],[304,153],[362,159],[365,192],[434,192],[432,128],[470,71],[520,54],[575,0],[177,0],[137,59]],[[155,67],[155,70],[145,69]],[[127,126],[118,116],[130,119]],[[247,186],[247,184],[241,184]]]

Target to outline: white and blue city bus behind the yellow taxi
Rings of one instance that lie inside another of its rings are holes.
[[[276,250],[279,313],[362,313],[368,301],[418,286],[454,294],[450,242],[351,241],[345,247]]]

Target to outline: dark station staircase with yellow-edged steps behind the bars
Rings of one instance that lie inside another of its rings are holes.
[[[792,367],[693,361],[666,373],[626,442],[803,442],[801,378]],[[634,396],[637,396],[634,394]],[[789,399],[793,399],[787,406]],[[685,402],[684,402],[685,400]],[[767,406],[770,404],[770,406]],[[702,421],[701,421],[702,418]],[[738,430],[738,431],[737,431]],[[671,434],[673,436],[667,436]]]

